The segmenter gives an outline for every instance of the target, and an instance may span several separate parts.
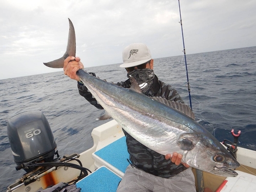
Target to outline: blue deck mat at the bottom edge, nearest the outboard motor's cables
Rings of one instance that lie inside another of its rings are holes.
[[[76,183],[81,192],[114,192],[121,178],[106,167],[100,167],[91,175]]]

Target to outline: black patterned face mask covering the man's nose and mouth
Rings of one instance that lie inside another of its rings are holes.
[[[128,78],[130,75],[138,82],[142,93],[146,94],[150,91],[155,77],[155,73],[152,69],[135,69],[134,71],[127,73]]]

